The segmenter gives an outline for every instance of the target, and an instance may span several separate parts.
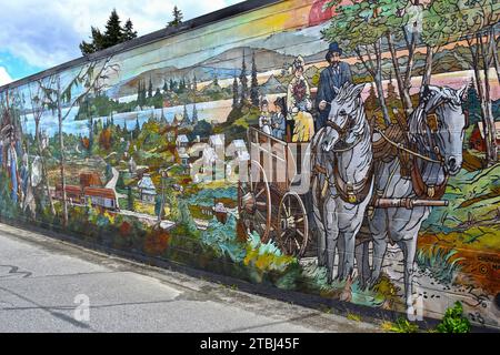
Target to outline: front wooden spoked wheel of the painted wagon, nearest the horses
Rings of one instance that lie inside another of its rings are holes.
[[[281,199],[277,242],[287,255],[302,257],[308,245],[309,222],[306,207],[296,192]]]

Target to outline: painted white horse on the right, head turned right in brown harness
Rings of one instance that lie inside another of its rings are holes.
[[[462,143],[466,114],[462,103],[468,87],[461,90],[424,87],[420,103],[408,119],[410,148],[424,160],[412,155],[411,178],[401,176],[400,160],[378,162],[376,189],[379,197],[439,200],[444,193],[448,176],[456,175],[462,165]],[[436,114],[436,122],[429,124],[428,115]],[[432,126],[430,126],[432,125]],[[420,226],[429,216],[431,207],[410,206],[376,209],[369,220],[373,237],[373,270],[368,284],[377,284],[388,240],[397,243],[404,257],[404,288],[407,312],[414,313],[413,273],[417,239]]]

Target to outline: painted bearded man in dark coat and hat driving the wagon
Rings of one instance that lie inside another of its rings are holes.
[[[346,82],[352,82],[352,74],[349,64],[340,61],[342,49],[339,43],[330,44],[327,53],[327,62],[330,63],[320,75],[316,108],[319,115],[316,119],[316,132],[324,126],[330,113],[330,103],[336,98],[333,88],[340,89]]]

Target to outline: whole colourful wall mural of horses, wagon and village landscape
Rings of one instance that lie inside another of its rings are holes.
[[[0,88],[0,215],[499,327],[499,19],[289,0]]]

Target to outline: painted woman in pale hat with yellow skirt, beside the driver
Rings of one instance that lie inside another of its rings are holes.
[[[303,78],[304,61],[298,57],[291,70],[293,79],[288,85],[287,106],[294,121],[292,142],[308,142],[314,135],[314,120],[309,111],[312,109],[311,91]]]

